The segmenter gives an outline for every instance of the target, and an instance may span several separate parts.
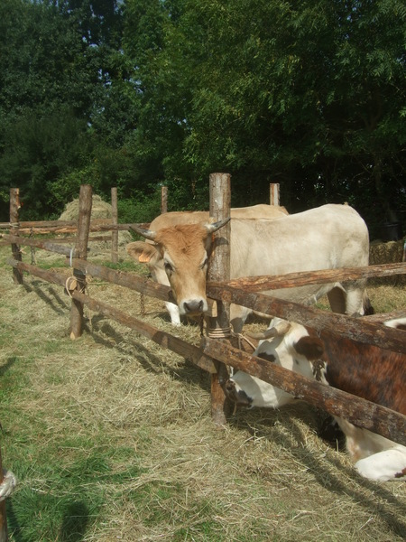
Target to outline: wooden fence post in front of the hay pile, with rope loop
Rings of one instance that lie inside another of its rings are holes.
[[[90,213],[92,210],[92,187],[82,184],[79,195],[78,208],[78,237],[75,247],[75,256],[86,260],[88,257],[88,231],[90,228]],[[74,288],[83,292],[86,288],[86,276],[79,269],[73,269],[73,277],[76,280]],[[77,339],[83,332],[83,304],[72,299],[70,308],[70,339]]]

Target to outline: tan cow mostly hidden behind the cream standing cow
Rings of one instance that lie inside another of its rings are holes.
[[[275,220],[286,216],[288,211],[284,207],[277,205],[265,205],[260,203],[251,207],[235,207],[230,210],[232,219],[267,219]],[[161,229],[171,228],[179,224],[201,224],[204,226],[209,221],[208,210],[175,210],[165,212],[152,220],[150,229],[160,231]],[[147,239],[147,246],[143,242],[134,242],[127,247],[128,253],[138,260],[139,263],[146,264],[150,270],[153,280],[160,285],[170,285],[169,278],[165,271],[163,258],[151,248],[153,241]],[[173,325],[180,325],[180,311],[178,305],[167,302],[166,308],[171,316]]]

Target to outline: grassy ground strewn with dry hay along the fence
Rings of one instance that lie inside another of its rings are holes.
[[[238,411],[219,431],[206,373],[86,308],[87,331],[70,341],[69,297],[32,276],[14,285],[8,255],[0,248],[1,447],[19,479],[11,542],[404,539],[406,484],[359,478],[318,438],[313,407]],[[140,313],[135,293],[89,292]],[[378,311],[406,305],[404,288],[370,295]],[[145,319],[173,332],[156,301]],[[198,343],[193,325],[179,334]]]

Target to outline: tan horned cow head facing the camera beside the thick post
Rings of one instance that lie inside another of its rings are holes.
[[[180,315],[207,312],[206,278],[211,235],[225,226],[228,220],[204,226],[176,225],[158,231],[133,227],[154,245],[130,243],[128,254],[147,264],[158,282],[171,285]]]

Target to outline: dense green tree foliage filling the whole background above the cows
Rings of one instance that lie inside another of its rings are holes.
[[[233,205],[280,182],[290,211],[351,201],[373,231],[406,214],[399,0],[5,0],[0,15],[2,214],[12,185],[43,219],[86,177],[145,216],[161,183],[170,209],[207,208],[216,171]]]

